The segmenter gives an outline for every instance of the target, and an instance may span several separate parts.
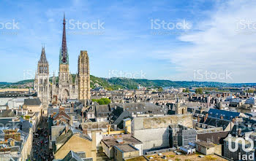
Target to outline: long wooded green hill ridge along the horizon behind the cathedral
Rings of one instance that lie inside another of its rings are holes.
[[[56,82],[58,82],[56,76]],[[73,82],[75,82],[75,74],[72,74]],[[15,83],[0,82],[0,87],[14,87],[15,85],[29,85],[34,79],[23,80]],[[52,82],[52,77],[50,77]],[[31,85],[31,84],[30,84]],[[228,84],[222,82],[187,82],[187,81],[170,81],[170,80],[149,80],[149,79],[129,79],[129,78],[101,78],[91,75],[91,88],[104,87],[106,90],[129,89],[135,90],[138,85],[147,88],[159,87],[252,87],[255,83],[236,83]]]

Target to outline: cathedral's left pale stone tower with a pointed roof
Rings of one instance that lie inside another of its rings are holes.
[[[34,79],[34,90],[42,105],[47,107],[50,101],[49,90],[49,64],[45,55],[45,47],[42,47],[41,57],[37,64],[37,73]]]

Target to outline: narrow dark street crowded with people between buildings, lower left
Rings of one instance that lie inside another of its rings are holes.
[[[37,127],[37,132],[34,133],[31,160],[53,160],[53,153],[49,151],[48,147],[48,122],[47,117],[42,117],[42,121]]]

